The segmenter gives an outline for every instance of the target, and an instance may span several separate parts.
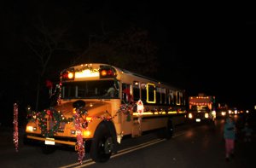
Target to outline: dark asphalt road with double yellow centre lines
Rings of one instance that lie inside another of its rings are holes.
[[[119,145],[119,153],[103,164],[94,163],[89,154],[79,164],[78,154],[70,148],[61,148],[54,154],[42,154],[40,148],[24,146],[19,142],[15,152],[13,130],[0,130],[0,166],[7,167],[172,167],[172,168],[247,168],[255,165],[255,133],[252,142],[243,142],[240,130],[237,132],[236,155],[230,162],[224,159],[224,120],[215,125],[193,124],[176,127],[171,140],[159,139],[149,133],[138,138],[125,137]],[[22,136],[22,130],[20,135]],[[20,137],[21,138],[21,137]],[[136,148],[135,148],[136,147]],[[124,152],[125,151],[125,152]]]

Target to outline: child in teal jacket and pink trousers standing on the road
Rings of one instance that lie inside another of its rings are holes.
[[[225,140],[225,157],[230,161],[230,155],[234,156],[236,139],[236,125],[234,121],[228,117],[224,124],[224,140]]]

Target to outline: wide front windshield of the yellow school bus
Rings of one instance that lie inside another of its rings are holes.
[[[119,81],[96,80],[67,82],[61,84],[62,99],[117,99],[119,98]]]

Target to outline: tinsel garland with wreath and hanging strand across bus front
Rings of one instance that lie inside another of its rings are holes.
[[[81,114],[79,113],[79,109],[76,109],[76,113],[73,115],[73,118],[67,119],[61,114],[61,112],[56,111],[54,108],[45,109],[44,111],[41,111],[41,112],[34,112],[31,110],[31,107],[28,106],[26,108],[27,110],[26,118],[32,120],[33,122],[38,123],[38,127],[41,130],[41,134],[44,137],[54,136],[57,130],[59,129],[61,122],[64,122],[64,123],[74,122],[76,134],[77,134],[79,163],[82,164],[84,159],[84,154],[85,154],[82,127],[86,130],[90,122],[92,122],[94,119],[102,119],[102,120],[109,121],[114,119],[119,113],[124,113],[125,115],[127,115],[126,120],[130,121],[131,120],[130,112],[134,111],[136,106],[137,106],[137,103],[122,104],[120,105],[117,113],[115,113],[112,117],[111,116],[108,116],[108,117],[95,116],[95,117],[92,117],[89,121],[84,121],[84,122],[80,121]],[[108,111],[106,111],[106,113],[108,113]],[[47,130],[47,119],[45,118],[46,115],[51,116],[51,119],[53,119],[54,121],[53,128],[49,130]]]

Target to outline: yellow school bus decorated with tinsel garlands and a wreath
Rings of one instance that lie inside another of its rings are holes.
[[[90,147],[91,159],[106,162],[123,136],[162,130],[171,138],[174,126],[185,122],[185,90],[108,64],[63,70],[59,90],[55,106],[28,113],[26,140],[43,142],[44,152],[69,145],[83,159]]]

